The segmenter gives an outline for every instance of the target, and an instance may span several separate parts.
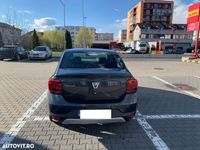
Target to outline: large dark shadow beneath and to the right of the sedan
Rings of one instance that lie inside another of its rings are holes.
[[[138,90],[138,110],[143,115],[200,114],[199,108],[199,99],[182,93],[146,87],[140,87]],[[155,149],[137,120],[104,125],[59,126],[83,134],[86,139],[93,137],[95,139],[91,141],[93,148],[101,143],[98,146],[109,150]]]

